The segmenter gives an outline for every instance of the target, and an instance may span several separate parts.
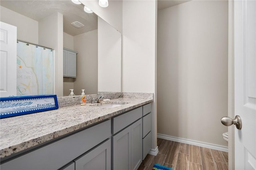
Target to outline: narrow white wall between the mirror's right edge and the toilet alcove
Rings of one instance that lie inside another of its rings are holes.
[[[154,0],[123,1],[122,86],[124,92],[154,93],[152,149],[157,146],[156,8]]]

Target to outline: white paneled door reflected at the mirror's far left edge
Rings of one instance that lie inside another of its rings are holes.
[[[0,97],[16,96],[17,27],[0,22]]]

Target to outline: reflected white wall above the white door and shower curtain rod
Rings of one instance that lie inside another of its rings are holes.
[[[17,39],[38,44],[38,22],[0,6],[0,21],[17,27]]]

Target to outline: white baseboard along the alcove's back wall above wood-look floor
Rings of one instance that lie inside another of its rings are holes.
[[[205,142],[199,142],[199,141],[196,141],[196,140],[178,138],[178,137],[168,136],[166,134],[159,134],[159,133],[157,134],[157,137],[161,138],[161,139],[172,140],[172,141],[175,141],[175,142],[192,144],[192,145],[196,145],[196,146],[202,146],[204,148],[210,148],[210,149],[215,149],[215,150],[220,150],[220,151],[228,152],[228,147],[227,146],[221,146],[221,145],[217,145],[217,144],[210,144],[210,143],[205,143]]]

